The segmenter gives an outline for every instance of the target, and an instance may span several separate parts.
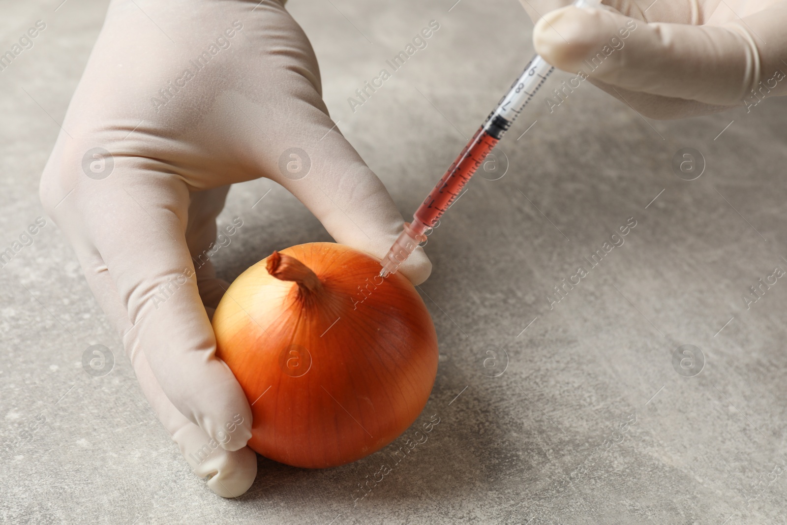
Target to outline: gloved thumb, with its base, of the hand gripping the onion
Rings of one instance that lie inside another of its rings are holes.
[[[244,76],[228,77],[217,98],[237,119],[224,130],[223,140],[239,152],[232,162],[248,178],[267,176],[281,183],[337,242],[382,259],[404,221],[380,180],[327,115],[309,39],[275,4],[249,13],[243,31],[260,45],[239,52]],[[430,271],[423,250],[401,267],[414,283]]]

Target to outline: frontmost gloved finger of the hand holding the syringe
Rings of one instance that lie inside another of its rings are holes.
[[[536,24],[534,46],[565,71],[709,105],[741,103],[760,79],[756,43],[736,24],[644,24],[604,10],[566,7]]]

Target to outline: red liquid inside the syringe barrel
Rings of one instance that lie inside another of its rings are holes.
[[[437,186],[431,190],[427,199],[419,206],[415,218],[426,224],[427,227],[434,227],[435,224],[438,224],[442,214],[459,197],[464,185],[483,164],[486,156],[492,152],[497,142],[500,142],[500,139],[495,139],[484,131],[483,126],[479,128],[470,142],[467,142],[467,146],[464,146],[459,157],[456,157],[456,161],[453,161],[451,167],[442,176]]]

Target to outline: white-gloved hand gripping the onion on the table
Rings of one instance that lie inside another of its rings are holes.
[[[209,312],[227,283],[202,264],[229,185],[268,177],[378,258],[402,217],[328,116],[312,47],[279,0],[113,0],[62,128],[45,209],[183,456],[239,496],[257,473],[251,412],[214,355]],[[427,279],[423,250],[401,272]]]

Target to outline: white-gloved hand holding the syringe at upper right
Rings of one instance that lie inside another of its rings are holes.
[[[586,72],[645,116],[751,110],[762,98],[787,93],[787,2],[604,0],[601,9],[563,7],[569,0],[521,2],[538,20],[536,52],[564,71]],[[619,30],[632,23],[636,28],[621,38]]]

